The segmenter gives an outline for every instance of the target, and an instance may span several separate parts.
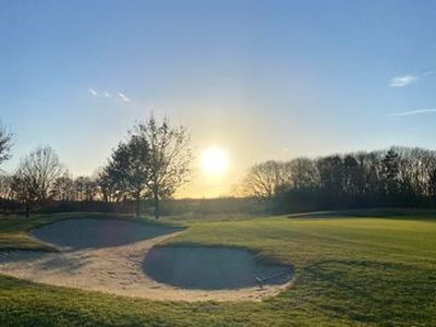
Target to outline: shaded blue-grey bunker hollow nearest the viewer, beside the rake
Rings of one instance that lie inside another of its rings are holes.
[[[230,247],[157,246],[143,268],[159,282],[202,290],[282,284],[292,277],[289,266],[267,265],[250,251]]]

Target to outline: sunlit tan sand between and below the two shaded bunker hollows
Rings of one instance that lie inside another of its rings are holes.
[[[81,223],[86,229],[86,223],[95,222],[83,219]],[[56,228],[50,232],[56,232]],[[148,278],[142,269],[145,255],[154,245],[178,233],[110,247],[63,247],[60,253],[0,252],[0,272],[53,286],[159,301],[259,301],[289,286],[203,291],[179,289]]]

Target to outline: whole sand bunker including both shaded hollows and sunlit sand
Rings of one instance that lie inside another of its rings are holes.
[[[206,252],[205,247],[180,247],[181,252],[174,255],[174,247],[152,250],[179,232],[178,228],[118,219],[64,220],[32,232],[58,246],[59,253],[0,252],[0,272],[55,286],[162,301],[261,300],[289,284],[282,282],[290,275],[266,281],[263,288],[255,284],[255,276],[265,278],[283,267],[267,266],[265,270],[250,252],[216,249],[218,252],[214,254],[208,252],[215,251],[214,247]],[[162,261],[158,261],[159,255],[164,255]],[[215,259],[207,263],[208,256]],[[172,259],[175,262],[171,263]],[[156,267],[148,269],[149,265]],[[207,265],[210,267],[205,268]],[[190,266],[195,270],[186,269]],[[221,266],[226,269],[217,268]],[[157,274],[159,269],[165,271]],[[185,277],[174,279],[170,269]],[[195,271],[205,277],[198,278]],[[263,271],[267,274],[262,275]],[[223,283],[222,279],[228,281]]]

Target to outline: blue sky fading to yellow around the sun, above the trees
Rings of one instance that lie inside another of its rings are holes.
[[[4,1],[0,120],[12,172],[38,145],[93,174],[153,112],[187,126],[182,196],[229,192],[266,159],[436,149],[435,1]],[[196,159],[194,167],[197,167]]]

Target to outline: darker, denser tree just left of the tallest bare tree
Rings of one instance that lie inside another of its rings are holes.
[[[136,203],[140,216],[141,199],[149,195],[150,148],[144,134],[131,134],[125,143],[120,143],[112,152],[107,167],[108,178]]]

